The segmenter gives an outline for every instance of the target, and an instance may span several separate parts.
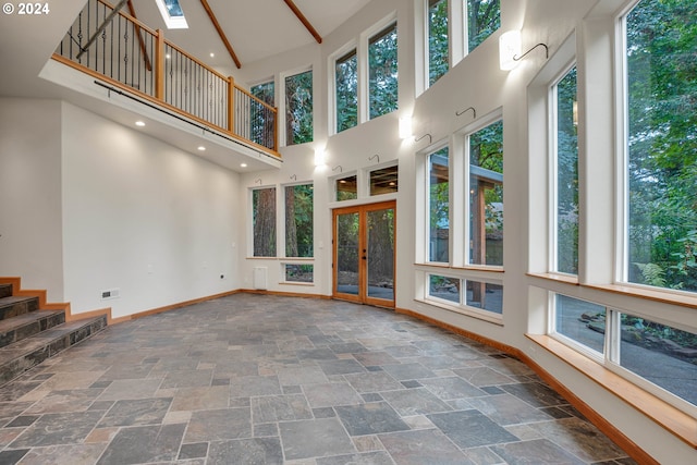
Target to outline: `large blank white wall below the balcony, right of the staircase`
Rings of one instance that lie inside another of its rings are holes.
[[[240,286],[236,173],[69,103],[62,120],[73,313],[120,317]],[[101,299],[110,289],[120,297]]]

